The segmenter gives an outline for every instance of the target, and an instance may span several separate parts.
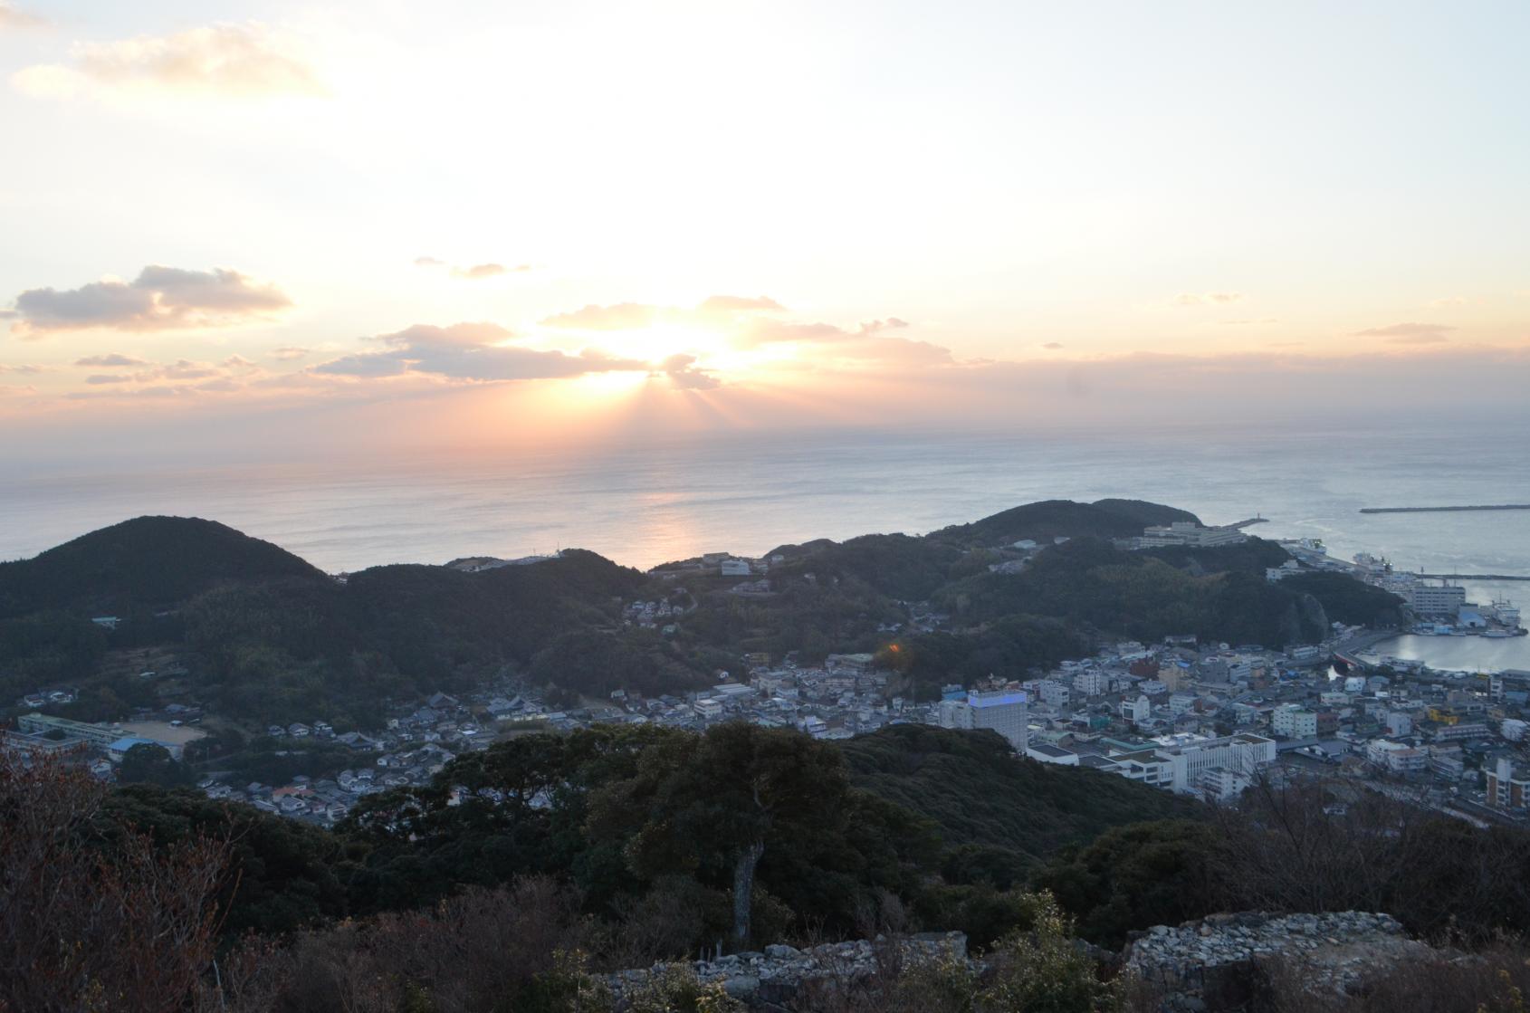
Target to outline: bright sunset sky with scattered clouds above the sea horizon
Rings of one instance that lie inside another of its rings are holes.
[[[1525,38],[1518,0],[0,0],[0,462],[1519,424]]]

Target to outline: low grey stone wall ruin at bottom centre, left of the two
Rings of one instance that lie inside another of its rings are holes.
[[[926,932],[890,941],[878,936],[875,941],[825,943],[802,950],[777,943],[760,952],[695,961],[690,967],[701,982],[721,981],[734,999],[744,1001],[751,1008],[768,1010],[789,1004],[805,982],[864,981],[889,963],[906,967],[929,959],[965,961],[967,936],[961,932]],[[624,993],[641,987],[650,975],[662,970],[664,964],[656,964],[650,970],[623,970],[610,975],[607,984],[620,1005]]]

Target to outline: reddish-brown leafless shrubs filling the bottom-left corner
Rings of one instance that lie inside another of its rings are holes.
[[[0,753],[0,1010],[177,1008],[217,941],[228,843],[90,832],[106,787]]]

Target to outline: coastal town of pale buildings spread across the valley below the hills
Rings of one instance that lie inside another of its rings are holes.
[[[1232,545],[1247,537],[1239,528],[1258,522],[1148,528],[1121,548]],[[1270,581],[1314,569],[1342,571],[1403,597],[1415,632],[1524,632],[1518,629],[1518,611],[1507,603],[1481,609],[1467,603],[1458,586],[1397,574],[1385,560],[1366,554],[1342,563],[1317,542],[1281,545],[1294,559],[1271,569]],[[1024,542],[1008,548],[1017,559],[1002,566],[1014,572],[1042,546]],[[536,562],[476,559],[453,565],[480,569]],[[771,562],[719,552],[670,566],[662,575],[678,580],[705,568],[747,578],[733,586],[734,594],[765,594],[768,581],[760,575]],[[669,601],[629,601],[623,621],[672,634],[682,614]],[[1484,614],[1492,617],[1490,624]],[[929,603],[909,603],[910,629],[933,630],[947,621]],[[1530,728],[1530,672],[1434,672],[1375,653],[1374,646],[1395,634],[1334,623],[1320,644],[1285,650],[1198,643],[1190,635],[1157,644],[1121,641],[1050,672],[1024,678],[994,673],[972,687],[942,686],[938,699],[915,699],[935,693],[912,693],[909,687],[892,692],[898,684],[895,656],[872,653],[831,653],[812,664],[796,652],[780,658],[754,653],[745,658],[745,670],[719,672],[707,690],[656,696],[615,690],[609,699],[562,708],[539,687],[505,673],[473,693],[438,692],[401,705],[384,727],[367,731],[337,733],[320,718],[269,725],[265,739],[274,756],[304,757],[309,745],[323,744],[326,762],[283,783],[263,783],[219,771],[213,759],[202,764],[197,787],[211,799],[334,823],[367,794],[425,785],[456,756],[529,731],[595,724],[704,730],[745,721],[797,728],[817,739],[846,739],[884,725],[930,724],[990,728],[1030,761],[1092,767],[1210,802],[1236,799],[1259,779],[1325,776],[1412,791],[1420,802],[1476,825],[1525,820],[1530,764],[1521,747]],[[69,690],[54,689],[28,695],[20,704],[41,707],[69,699]],[[202,719],[199,707],[185,704],[142,710],[119,724],[32,712],[0,733],[0,741],[34,753],[87,754],[92,770],[112,779],[138,745],[164,748],[181,761],[203,736]]]

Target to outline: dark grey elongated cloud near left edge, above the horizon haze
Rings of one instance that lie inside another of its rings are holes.
[[[76,289],[38,288],[15,297],[18,338],[55,331],[173,331],[225,327],[292,305],[274,285],[239,271],[184,271],[150,265],[133,282],[92,282]]]

